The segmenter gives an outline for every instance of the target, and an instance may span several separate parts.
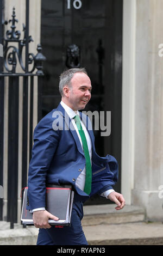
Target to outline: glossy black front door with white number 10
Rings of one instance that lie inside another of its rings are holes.
[[[41,45],[44,63],[42,117],[61,100],[59,75],[67,68],[84,67],[91,79],[92,97],[85,111],[111,111],[111,134],[95,130],[96,151],[110,154],[119,164],[121,192],[121,90],[123,0],[42,1]],[[110,203],[95,196],[86,204]]]

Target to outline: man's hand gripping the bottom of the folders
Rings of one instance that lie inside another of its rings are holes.
[[[34,211],[33,221],[36,228],[51,228],[52,226],[48,223],[48,219],[51,218],[54,221],[58,221],[59,218],[50,214],[46,210]]]

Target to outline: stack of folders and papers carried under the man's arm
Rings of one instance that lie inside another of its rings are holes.
[[[22,224],[34,225],[33,214],[26,209],[28,187],[24,189],[21,221]],[[71,185],[53,185],[46,187],[46,210],[59,218],[58,221],[49,219],[51,225],[71,225],[71,212],[74,192]]]

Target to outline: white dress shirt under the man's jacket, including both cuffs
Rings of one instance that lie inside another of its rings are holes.
[[[61,106],[65,109],[65,111],[67,112],[68,116],[70,117],[71,119],[71,123],[73,124],[74,126],[74,129],[76,130],[77,132],[77,135],[79,137],[79,140],[80,140],[80,143],[82,145],[82,148],[83,148],[83,144],[82,144],[82,139],[79,135],[79,131],[78,131],[78,128],[77,128],[77,125],[76,125],[76,122],[74,120],[74,117],[78,114],[79,115],[79,112],[76,111],[74,112],[72,108],[68,107],[63,101],[60,102]],[[79,115],[80,117],[80,115]],[[90,139],[90,136],[89,136],[89,133],[87,132],[87,129],[85,127],[85,125],[83,124],[82,120],[81,120],[81,125],[82,125],[82,128],[84,130],[84,133],[85,133],[85,137],[86,137],[86,141],[87,141],[87,146],[88,146],[88,149],[89,149],[89,154],[90,154],[90,160],[92,159],[92,143],[91,143],[91,139]],[[85,175],[86,175],[86,169],[84,168],[82,170],[82,172],[79,174],[77,180],[76,180],[76,186],[80,188],[80,190],[83,190],[84,191],[84,185],[85,185]],[[103,192],[101,194],[102,197],[106,197],[108,198],[108,195],[114,190],[107,190],[105,192]],[[32,212],[34,211],[39,211],[39,210],[45,210],[45,208],[37,208],[37,209],[33,209]]]

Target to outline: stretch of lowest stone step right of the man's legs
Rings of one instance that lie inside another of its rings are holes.
[[[89,245],[163,245],[162,222],[91,225],[83,230]]]

